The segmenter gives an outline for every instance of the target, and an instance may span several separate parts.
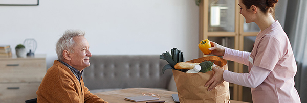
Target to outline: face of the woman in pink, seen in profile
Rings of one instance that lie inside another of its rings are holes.
[[[252,8],[247,9],[246,6],[242,3],[243,0],[239,0],[239,6],[240,6],[240,14],[242,14],[242,16],[244,16],[245,18],[245,22],[246,23],[250,23],[253,22],[252,21]]]

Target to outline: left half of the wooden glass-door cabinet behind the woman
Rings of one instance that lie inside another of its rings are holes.
[[[204,0],[200,4],[200,40],[209,39],[239,49],[239,8],[237,0]],[[200,57],[203,57],[200,51]],[[238,63],[228,61],[229,71],[238,72]],[[230,99],[237,100],[238,85],[229,83]]]

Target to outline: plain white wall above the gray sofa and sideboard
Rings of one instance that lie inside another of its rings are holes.
[[[199,7],[194,0],[40,0],[38,6],[0,6],[0,44],[26,38],[57,59],[55,44],[67,29],[87,34],[93,55],[160,55],[172,47],[186,60],[198,58]],[[159,57],[157,57],[159,58]]]

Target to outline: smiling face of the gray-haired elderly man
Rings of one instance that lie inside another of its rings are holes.
[[[73,44],[73,53],[71,53],[71,66],[83,70],[90,66],[90,57],[92,56],[89,48],[89,42],[83,36],[74,37],[75,43]]]

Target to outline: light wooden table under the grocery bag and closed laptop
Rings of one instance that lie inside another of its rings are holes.
[[[115,91],[107,91],[107,92],[100,92],[100,93],[94,93],[98,97],[102,98],[105,101],[108,101],[109,103],[131,103],[131,101],[124,100],[125,97],[133,97],[133,96],[142,96],[142,93],[156,93],[160,94],[159,100],[153,100],[153,101],[165,101],[174,103],[171,94],[177,94],[177,92],[173,91],[166,91],[166,90],[160,90],[160,89],[151,89],[151,88],[128,88],[128,89],[121,89],[121,90],[115,90]],[[146,103],[148,101],[143,101],[139,103]],[[243,101],[235,101],[230,100],[231,103],[247,103]]]

